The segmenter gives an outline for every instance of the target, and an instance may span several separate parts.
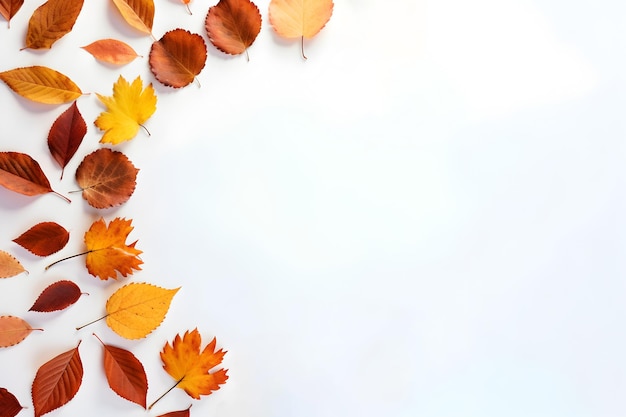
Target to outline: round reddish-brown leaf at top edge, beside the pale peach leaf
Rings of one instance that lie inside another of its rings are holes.
[[[261,31],[261,13],[250,0],[220,0],[209,8],[205,20],[209,40],[220,51],[248,54]]]

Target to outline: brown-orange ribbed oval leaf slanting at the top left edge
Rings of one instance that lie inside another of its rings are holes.
[[[28,22],[25,48],[50,49],[53,43],[72,30],[83,8],[83,1],[48,0],[39,6]]]

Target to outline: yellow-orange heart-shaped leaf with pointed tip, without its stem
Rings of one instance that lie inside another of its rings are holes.
[[[141,339],[163,322],[180,288],[166,289],[146,283],[123,286],[106,304],[106,323],[126,339]]]

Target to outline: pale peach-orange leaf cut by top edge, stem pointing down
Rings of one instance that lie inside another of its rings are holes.
[[[269,5],[270,24],[283,38],[300,38],[304,59],[304,39],[317,35],[332,14],[332,0],[271,0]]]

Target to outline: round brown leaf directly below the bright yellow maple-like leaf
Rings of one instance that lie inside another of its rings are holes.
[[[137,172],[126,155],[101,148],[85,156],[76,170],[76,181],[89,205],[108,208],[128,201],[135,191]]]

